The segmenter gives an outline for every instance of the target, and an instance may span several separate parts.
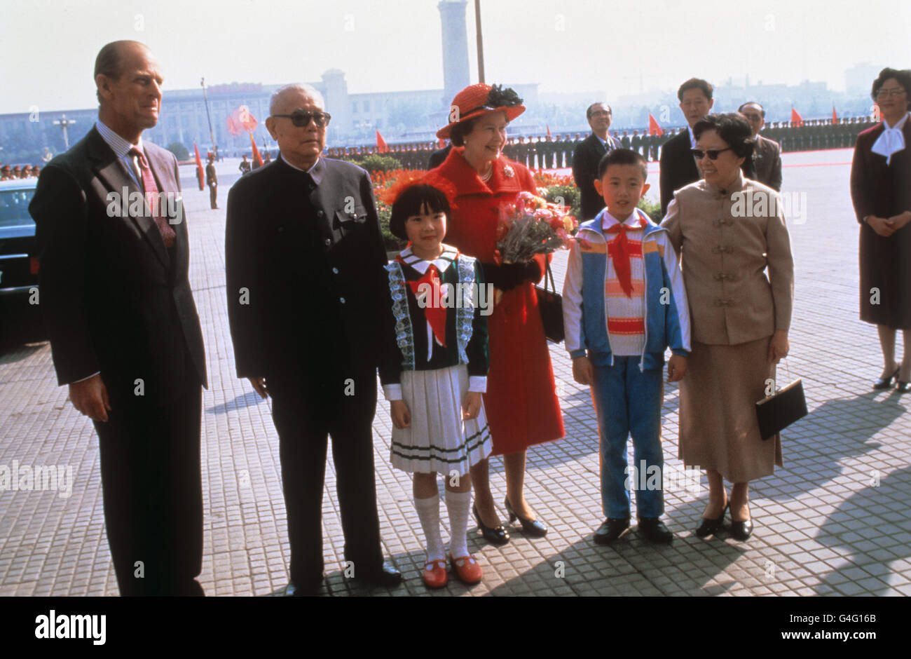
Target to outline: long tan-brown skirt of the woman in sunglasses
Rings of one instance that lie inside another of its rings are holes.
[[[684,465],[719,471],[732,483],[771,476],[775,465],[783,466],[781,438],[763,441],[756,421],[756,401],[765,397],[766,379],[775,376],[768,363],[771,339],[692,342],[680,388],[678,458]]]

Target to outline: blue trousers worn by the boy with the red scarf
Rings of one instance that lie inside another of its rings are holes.
[[[614,357],[614,366],[593,366],[591,385],[601,450],[601,503],[612,518],[630,516],[630,489],[640,518],[664,512],[661,453],[662,369],[639,370],[639,356]],[[635,467],[627,463],[632,435]],[[657,467],[658,469],[654,469]]]

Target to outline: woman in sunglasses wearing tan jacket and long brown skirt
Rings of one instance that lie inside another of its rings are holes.
[[[743,178],[753,148],[746,118],[709,115],[693,134],[702,179],[674,192],[661,222],[681,255],[692,325],[680,457],[709,478],[696,535],[720,530],[730,507],[732,536],[743,541],[752,533],[749,482],[782,466],[781,441],[760,437],[754,404],[788,353],[791,242],[778,193]],[[730,498],[723,479],[733,483]]]

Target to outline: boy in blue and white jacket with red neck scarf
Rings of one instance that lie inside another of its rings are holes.
[[[563,286],[573,377],[591,386],[598,417],[607,520],[595,541],[609,544],[629,530],[635,489],[640,532],[652,542],[670,542],[673,535],[659,519],[661,369],[670,346],[668,381],[677,382],[686,371],[689,306],[668,232],[636,207],[649,190],[646,161],[633,150],[614,149],[600,161],[598,175],[594,185],[607,208],[579,227]]]

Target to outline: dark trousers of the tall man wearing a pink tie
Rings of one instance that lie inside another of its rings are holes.
[[[166,406],[112,401],[95,422],[107,542],[120,594],[203,595],[200,414],[192,369]]]

